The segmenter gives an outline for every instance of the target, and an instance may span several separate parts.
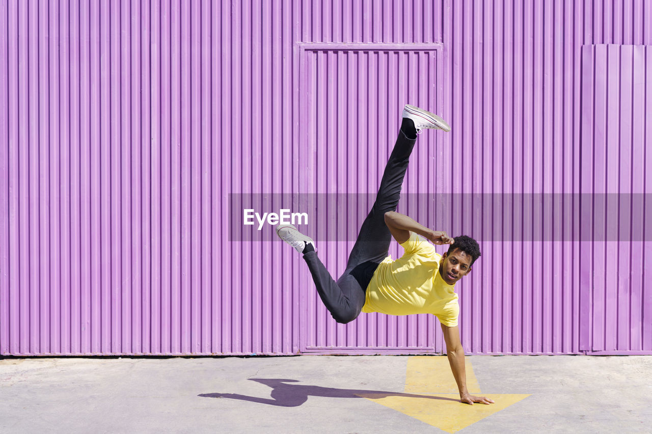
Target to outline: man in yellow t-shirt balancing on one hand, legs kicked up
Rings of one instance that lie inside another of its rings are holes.
[[[471,237],[454,239],[443,231],[433,231],[396,212],[409,156],[424,128],[451,130],[443,119],[429,111],[410,106],[403,109],[403,121],[389,156],[376,202],[364,219],[349,254],[346,270],[335,282],[317,256],[315,243],[293,225],[278,225],[276,233],[297,252],[303,253],[319,297],[338,323],[349,323],[360,312],[388,315],[432,313],[441,323],[451,370],[463,403],[493,403],[469,394],[466,388],[464,349],[460,343],[460,306],[455,283],[471,272],[480,256],[480,247]],[[389,257],[392,237],[405,253],[395,261]],[[434,244],[451,244],[443,255]]]

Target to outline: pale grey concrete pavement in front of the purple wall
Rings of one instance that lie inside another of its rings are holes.
[[[445,356],[0,360],[2,433],[650,432],[650,356],[468,356],[496,405],[458,403]],[[475,380],[474,380],[475,376]],[[448,384],[448,386],[446,386]],[[485,408],[481,408],[485,407]]]

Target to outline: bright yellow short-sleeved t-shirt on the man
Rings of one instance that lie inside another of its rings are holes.
[[[441,255],[424,237],[410,232],[401,244],[402,257],[386,257],[378,265],[366,290],[363,312],[388,315],[432,313],[443,325],[454,327],[460,314],[455,285],[439,275]]]

